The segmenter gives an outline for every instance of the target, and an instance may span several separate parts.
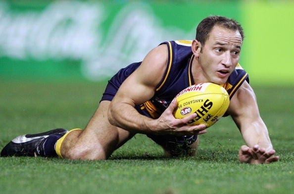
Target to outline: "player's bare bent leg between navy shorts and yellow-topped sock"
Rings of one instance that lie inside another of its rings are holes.
[[[109,104],[110,101],[101,101],[86,129],[69,137],[74,144],[65,153],[68,158],[106,159],[115,149],[134,136],[129,131],[115,127],[108,122]]]

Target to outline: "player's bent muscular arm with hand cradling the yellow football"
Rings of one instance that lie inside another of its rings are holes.
[[[136,71],[123,82],[108,109],[108,120],[112,125],[143,134],[188,135],[206,132],[199,132],[205,128],[204,125],[186,126],[196,114],[184,119],[173,117],[172,111],[177,106],[176,101],[173,101],[158,119],[141,115],[134,108],[136,104],[142,104],[154,95],[155,88],[163,77],[167,58],[166,45],[153,48]]]

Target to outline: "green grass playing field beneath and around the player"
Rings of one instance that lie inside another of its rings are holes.
[[[21,134],[83,128],[105,85],[0,79],[0,148]],[[200,136],[195,157],[164,157],[136,135],[104,161],[0,158],[0,194],[293,194],[294,88],[253,88],[279,162],[239,163],[244,141],[228,117]]]

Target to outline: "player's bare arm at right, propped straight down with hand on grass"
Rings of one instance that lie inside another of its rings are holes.
[[[237,124],[247,146],[239,151],[241,162],[268,163],[277,161],[267,127],[260,117],[255,94],[245,82],[232,98],[229,113]]]

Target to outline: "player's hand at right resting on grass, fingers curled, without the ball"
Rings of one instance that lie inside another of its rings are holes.
[[[242,145],[239,150],[239,160],[242,163],[250,164],[276,162],[279,160],[279,156],[275,156],[275,152],[276,151],[274,149],[265,151],[265,149],[259,147],[259,145],[254,145],[253,147]]]

